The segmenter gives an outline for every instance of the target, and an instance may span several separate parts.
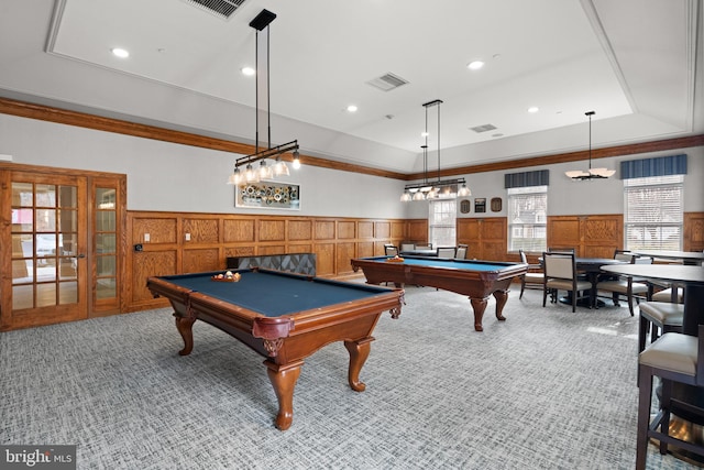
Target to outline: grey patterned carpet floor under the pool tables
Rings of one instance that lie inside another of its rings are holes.
[[[408,287],[362,369],[306,360],[279,431],[263,358],[170,309],[0,334],[0,444],[77,445],[79,469],[631,469],[638,316],[514,291],[484,331],[469,300]],[[650,446],[649,469],[693,464]]]

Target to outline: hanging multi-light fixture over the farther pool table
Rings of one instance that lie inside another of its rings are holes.
[[[428,101],[424,103],[424,108],[426,108],[426,131],[424,132],[424,136],[426,139],[425,144],[420,147],[422,149],[422,164],[424,164],[424,182],[422,183],[411,183],[407,184],[404,188],[404,194],[400,196],[400,200],[403,203],[408,203],[410,200],[428,200],[428,199],[438,199],[438,198],[449,198],[454,197],[453,190],[457,189],[457,196],[464,197],[471,196],[472,192],[466,187],[466,182],[464,178],[454,178],[454,179],[440,179],[440,105],[442,100],[436,99],[432,101]],[[433,182],[428,181],[428,108],[438,107],[438,178]]]

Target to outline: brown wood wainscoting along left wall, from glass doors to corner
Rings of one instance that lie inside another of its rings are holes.
[[[356,277],[352,258],[384,254],[384,243],[405,238],[404,219],[358,219],[351,217],[273,216],[271,214],[195,214],[128,211],[130,250],[127,260],[129,288],[123,311],[163,306],[145,289],[146,277],[221,270],[227,258],[312,253],[316,274],[323,277]],[[419,220],[419,241],[427,239],[427,220]],[[147,231],[148,230],[148,231]],[[168,232],[168,233],[167,233]],[[151,242],[141,237],[150,233]],[[186,233],[190,240],[186,241]],[[383,238],[378,238],[381,234]],[[157,242],[158,240],[158,242]],[[164,242],[161,240],[168,240]]]

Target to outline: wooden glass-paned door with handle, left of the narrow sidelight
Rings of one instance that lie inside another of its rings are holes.
[[[13,172],[11,177],[13,324],[85,318],[85,179]],[[7,210],[7,209],[6,209]]]

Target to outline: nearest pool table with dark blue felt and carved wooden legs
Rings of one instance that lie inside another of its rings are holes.
[[[323,280],[264,269],[233,270],[239,282],[215,281],[223,272],[155,276],[147,288],[168,298],[184,339],[179,354],[194,347],[193,325],[210,324],[266,358],[264,364],[278,400],[275,425],[293,422],[294,389],[304,359],[323,346],[343,341],[350,353],[348,381],[365,389],[360,371],[371,351],[381,315],[400,315],[403,291]]]

